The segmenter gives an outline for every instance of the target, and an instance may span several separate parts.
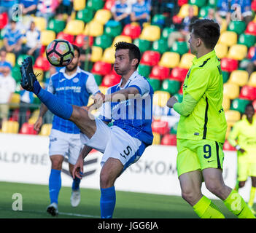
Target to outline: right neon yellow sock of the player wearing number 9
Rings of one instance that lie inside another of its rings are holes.
[[[234,189],[224,200],[224,204],[238,218],[255,218],[247,203],[244,202],[244,199]]]

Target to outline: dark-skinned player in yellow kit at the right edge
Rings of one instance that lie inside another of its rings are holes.
[[[252,188],[249,195],[249,208],[252,213],[252,205],[255,200],[256,191],[256,120],[254,119],[255,108],[247,104],[245,108],[246,118],[236,122],[228,135],[229,143],[237,149],[238,183],[236,190],[244,187],[248,176],[252,178]]]

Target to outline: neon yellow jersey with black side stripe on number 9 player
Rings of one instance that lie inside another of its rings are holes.
[[[183,84],[183,95],[198,101],[193,112],[180,116],[177,138],[224,143],[227,122],[222,108],[223,81],[215,51],[194,58]]]

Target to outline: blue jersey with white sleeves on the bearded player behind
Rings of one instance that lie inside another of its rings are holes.
[[[76,106],[87,106],[90,95],[99,92],[93,74],[79,67],[72,76],[65,74],[65,68],[61,68],[58,73],[51,76],[47,90],[63,102]],[[79,128],[73,122],[59,116],[53,117],[53,129],[63,133],[80,133]]]

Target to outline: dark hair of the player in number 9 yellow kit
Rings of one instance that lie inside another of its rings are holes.
[[[190,32],[199,37],[207,49],[214,49],[220,38],[220,25],[214,20],[195,20],[190,23]]]

